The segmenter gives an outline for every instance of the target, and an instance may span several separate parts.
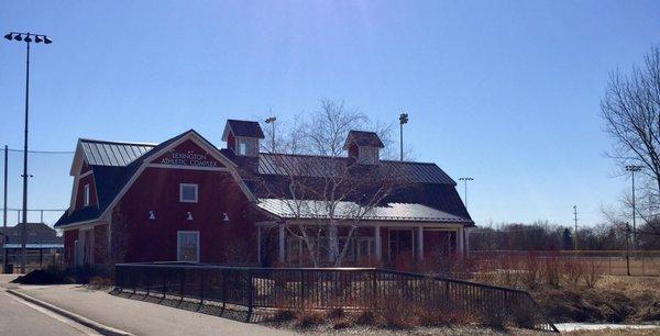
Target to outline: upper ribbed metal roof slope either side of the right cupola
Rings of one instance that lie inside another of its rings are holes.
[[[329,177],[332,167],[343,171],[349,158],[326,156],[306,156],[288,154],[266,154],[258,156],[258,172],[263,175]],[[455,186],[436,164],[382,160],[380,166],[389,169],[393,175],[405,177],[411,183],[437,183]]]

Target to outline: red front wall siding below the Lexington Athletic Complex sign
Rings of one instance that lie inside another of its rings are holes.
[[[197,183],[199,202],[179,202],[179,183]],[[256,227],[250,209],[229,172],[147,168],[113,211],[113,242],[125,242],[125,261],[172,261],[177,258],[177,232],[199,231],[201,262],[255,262]],[[148,220],[150,211],[155,220]],[[194,221],[186,219],[187,212]]]

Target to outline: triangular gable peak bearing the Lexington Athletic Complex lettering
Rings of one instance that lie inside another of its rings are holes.
[[[193,139],[186,139],[165,154],[151,160],[152,164],[174,167],[207,167],[224,168],[212,154],[196,144]]]

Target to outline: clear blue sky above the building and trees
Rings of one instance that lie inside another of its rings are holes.
[[[2,35],[54,40],[32,49],[33,149],[187,128],[220,145],[228,117],[272,108],[287,119],[340,99],[384,123],[408,111],[417,159],[475,179],[477,224],[571,224],[573,204],[581,223],[601,221],[629,186],[604,157],[608,71],[660,43],[657,1],[2,1],[0,23]],[[11,148],[22,146],[24,53],[0,43],[0,145]],[[12,208],[20,159],[10,154]],[[69,163],[32,156],[31,208],[67,206]]]

